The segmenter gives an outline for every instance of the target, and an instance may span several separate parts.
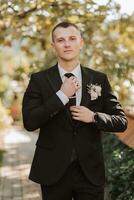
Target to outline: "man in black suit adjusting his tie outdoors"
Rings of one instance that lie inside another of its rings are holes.
[[[40,129],[30,179],[43,200],[103,200],[101,132],[124,131],[127,120],[106,75],[80,65],[76,25],[56,25],[52,46],[58,63],[32,74],[23,99],[24,127]]]

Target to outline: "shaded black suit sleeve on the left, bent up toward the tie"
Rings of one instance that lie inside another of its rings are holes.
[[[50,96],[46,102],[43,102],[41,89],[33,74],[22,102],[24,127],[28,131],[34,131],[41,128],[62,108],[64,108],[64,104],[61,102],[56,93],[53,93],[53,95]]]

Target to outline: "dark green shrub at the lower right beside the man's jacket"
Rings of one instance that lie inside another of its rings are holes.
[[[108,188],[112,200],[134,199],[134,150],[113,134],[104,134]]]

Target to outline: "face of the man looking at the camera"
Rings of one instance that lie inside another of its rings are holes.
[[[83,47],[83,39],[75,27],[58,27],[53,33],[53,38],[52,46],[59,59],[71,61],[79,57]]]

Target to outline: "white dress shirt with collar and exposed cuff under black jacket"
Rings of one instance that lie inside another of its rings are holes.
[[[62,82],[64,82],[65,79],[67,78],[65,76],[65,74],[68,73],[68,72],[65,69],[63,69],[59,64],[58,64],[58,70],[59,70],[59,73],[60,73],[61,80],[62,80]],[[81,97],[82,97],[82,76],[81,76],[80,64],[78,64],[76,66],[76,68],[69,73],[74,74],[74,76],[77,77],[77,79],[80,83],[81,88],[79,88],[76,92],[76,105],[80,105]],[[69,98],[61,90],[58,90],[58,92],[56,92],[56,94],[60,98],[60,100],[62,101],[62,103],[64,105],[66,105],[69,102]]]

